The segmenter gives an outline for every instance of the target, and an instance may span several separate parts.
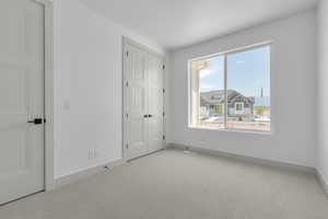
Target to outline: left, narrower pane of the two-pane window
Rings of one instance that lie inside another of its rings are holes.
[[[191,124],[224,128],[224,58],[191,62]]]

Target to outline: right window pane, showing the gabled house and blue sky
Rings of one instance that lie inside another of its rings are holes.
[[[270,130],[270,47],[229,55],[229,129]]]

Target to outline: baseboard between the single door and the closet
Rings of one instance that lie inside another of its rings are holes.
[[[55,189],[58,188],[58,187],[69,185],[69,184],[79,182],[81,180],[87,178],[92,175],[102,173],[104,171],[108,171],[108,170],[110,170],[113,168],[116,168],[118,165],[121,165],[124,163],[125,163],[125,161],[122,159],[120,159],[120,160],[113,161],[113,162],[109,162],[109,163],[104,164],[104,165],[90,168],[90,169],[86,169],[84,171],[80,171],[80,172],[77,172],[77,173],[73,173],[73,174],[70,174],[70,175],[67,175],[67,176],[62,176],[60,178],[55,180]]]

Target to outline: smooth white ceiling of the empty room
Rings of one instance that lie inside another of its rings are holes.
[[[315,5],[316,0],[80,0],[172,50]]]

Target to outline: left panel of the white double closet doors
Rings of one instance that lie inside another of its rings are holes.
[[[148,76],[144,53],[130,45],[125,49],[125,145],[127,158],[148,152]]]

